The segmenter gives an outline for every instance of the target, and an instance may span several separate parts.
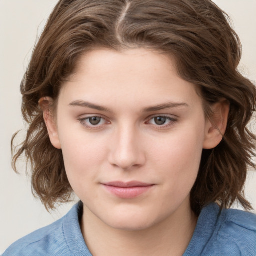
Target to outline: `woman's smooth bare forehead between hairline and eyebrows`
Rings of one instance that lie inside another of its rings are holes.
[[[141,107],[169,101],[193,104],[200,99],[196,86],[178,76],[171,56],[141,48],[97,49],[82,55],[60,97]]]

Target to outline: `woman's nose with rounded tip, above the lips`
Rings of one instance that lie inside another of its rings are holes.
[[[134,127],[120,127],[110,143],[109,163],[123,170],[144,165],[145,148]]]

